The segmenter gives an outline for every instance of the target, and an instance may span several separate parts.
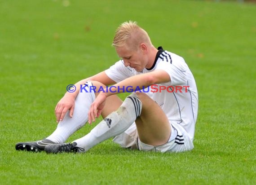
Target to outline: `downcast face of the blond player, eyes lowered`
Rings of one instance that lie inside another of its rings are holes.
[[[130,49],[126,45],[115,47],[116,53],[124,61],[124,66],[130,66],[141,72],[146,66],[145,56],[140,48]]]

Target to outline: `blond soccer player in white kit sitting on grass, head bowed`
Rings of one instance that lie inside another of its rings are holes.
[[[132,21],[118,27],[112,45],[121,59],[79,81],[75,92],[62,97],[55,108],[58,125],[49,137],[17,143],[16,150],[86,152],[110,137],[122,147],[143,151],[194,148],[198,93],[184,59],[162,47],[155,48],[147,32]],[[131,89],[136,92],[124,102],[116,96]],[[103,120],[87,135],[65,143],[100,115]]]

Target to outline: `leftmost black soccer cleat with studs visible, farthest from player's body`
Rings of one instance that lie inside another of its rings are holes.
[[[43,139],[40,141],[32,141],[32,142],[20,142],[15,145],[16,150],[26,150],[32,152],[40,152],[44,151],[46,145],[54,144],[53,141],[49,139]]]

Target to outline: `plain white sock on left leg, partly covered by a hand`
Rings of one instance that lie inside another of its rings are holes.
[[[92,84],[89,82],[90,85]],[[87,90],[90,92],[89,88]],[[64,119],[58,123],[56,130],[46,139],[55,143],[64,143],[68,137],[83,127],[88,121],[88,111],[94,100],[94,92],[79,93],[75,99],[75,109],[72,118],[69,116],[69,111],[67,111]]]

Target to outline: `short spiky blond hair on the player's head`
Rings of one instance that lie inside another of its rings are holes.
[[[112,46],[121,47],[127,44],[136,49],[141,43],[152,45],[147,32],[138,26],[137,22],[129,21],[123,22],[117,28]]]

